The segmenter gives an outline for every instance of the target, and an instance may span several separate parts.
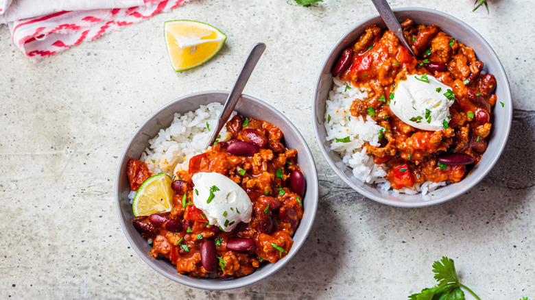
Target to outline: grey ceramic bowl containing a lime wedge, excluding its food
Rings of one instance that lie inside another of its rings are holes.
[[[128,199],[130,184],[128,182],[128,177],[126,176],[128,160],[130,160],[130,158],[139,159],[145,147],[148,147],[149,145],[148,140],[152,138],[152,136],[155,136],[161,128],[169,127],[169,125],[171,125],[175,112],[196,110],[199,108],[199,105],[206,105],[215,101],[224,103],[227,97],[228,92],[197,92],[176,99],[152,114],[152,116],[139,127],[137,132],[130,139],[130,142],[128,142],[128,145],[126,145],[126,149],[119,161],[119,170],[117,171],[117,179],[115,182],[115,201],[117,214],[119,214],[119,222],[121,223],[121,227],[123,227],[123,232],[126,235],[128,242],[130,242],[130,245],[132,245],[136,253],[138,253],[149,266],[154,268],[154,270],[158,271],[161,275],[164,275],[175,282],[179,282],[180,284],[185,284],[194,288],[204,288],[206,290],[226,290],[246,286],[258,282],[282,268],[284,264],[296,255],[303,242],[305,242],[312,227],[314,217],[316,216],[316,209],[318,207],[318,173],[316,173],[316,164],[314,164],[312,153],[305,140],[299,134],[296,127],[272,106],[259,99],[242,95],[235,108],[239,114],[259,118],[276,125],[283,131],[287,147],[298,150],[298,163],[302,169],[303,175],[305,175],[307,190],[305,199],[303,199],[305,212],[302,221],[293,236],[294,245],[292,246],[292,249],[285,258],[275,264],[265,264],[251,275],[245,277],[225,280],[180,275],[176,271],[176,266],[171,264],[171,262],[167,260],[154,260],[154,258],[149,255],[151,246],[147,244],[147,240],[142,238],[141,234],[139,234],[139,232],[132,226],[134,214],[132,214],[132,205],[130,205]]]

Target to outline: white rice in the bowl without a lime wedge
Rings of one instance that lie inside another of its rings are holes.
[[[333,90],[329,92],[329,99],[326,101],[326,140],[331,141],[331,149],[340,153],[342,162],[353,169],[353,175],[357,179],[368,184],[377,184],[381,192],[387,192],[391,188],[390,182],[384,178],[387,168],[383,164],[375,164],[372,155],[367,153],[364,147],[366,142],[372,146],[379,146],[379,130],[382,127],[371,118],[364,121],[362,116],[351,116],[349,112],[355,99],[366,97],[368,97],[366,90],[359,90],[348,82],[334,78]],[[340,141],[347,137],[349,142]],[[393,189],[393,192],[394,195],[399,195],[400,192],[408,195],[421,192],[422,195],[426,195],[427,192],[445,185],[446,182],[424,182],[414,184],[412,188]]]

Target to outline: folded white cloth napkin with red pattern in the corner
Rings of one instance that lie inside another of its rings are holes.
[[[93,40],[181,5],[185,0],[0,0],[0,24],[38,62],[84,40]]]

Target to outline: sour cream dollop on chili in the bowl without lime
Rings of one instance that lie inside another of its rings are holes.
[[[412,127],[436,132],[445,128],[444,121],[449,122],[452,104],[453,92],[449,86],[429,74],[409,75],[394,91],[390,110]]]

